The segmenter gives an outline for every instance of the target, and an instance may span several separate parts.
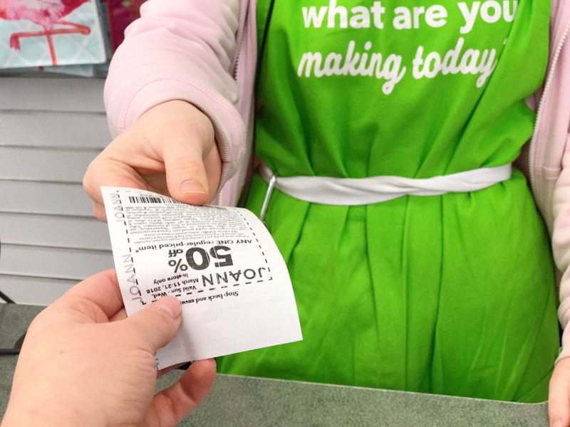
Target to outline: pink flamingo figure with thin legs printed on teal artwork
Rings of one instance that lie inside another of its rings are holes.
[[[72,33],[87,36],[91,31],[88,26],[64,20],[68,14],[87,1],[90,0],[0,0],[0,19],[6,21],[26,19],[43,27],[43,31],[13,33],[10,36],[10,47],[19,51],[21,38],[45,36],[48,39],[51,63],[57,65],[52,36]]]

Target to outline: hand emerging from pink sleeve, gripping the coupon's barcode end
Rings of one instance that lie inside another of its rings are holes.
[[[83,187],[95,216],[105,221],[101,186],[124,186],[171,196],[187,204],[214,198],[222,161],[209,118],[173,100],[152,107],[89,165]]]

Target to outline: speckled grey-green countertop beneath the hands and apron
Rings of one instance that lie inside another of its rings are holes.
[[[0,347],[13,347],[41,310],[0,305]],[[0,414],[4,413],[16,356],[0,357]],[[176,381],[175,370],[159,380]],[[546,427],[546,403],[483,399],[312,384],[218,374],[202,405],[180,426],[504,426]]]

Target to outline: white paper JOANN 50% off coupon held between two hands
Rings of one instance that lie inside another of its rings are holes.
[[[127,314],[164,295],[182,303],[158,369],[302,339],[289,272],[251,211],[101,190]]]

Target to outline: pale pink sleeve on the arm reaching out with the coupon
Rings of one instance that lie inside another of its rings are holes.
[[[147,0],[140,14],[125,31],[105,82],[111,134],[161,102],[192,102],[214,124],[223,185],[245,149],[232,75],[239,0]]]

